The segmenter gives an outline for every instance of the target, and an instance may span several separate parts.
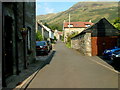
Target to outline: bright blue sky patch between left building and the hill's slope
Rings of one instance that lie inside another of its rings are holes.
[[[36,3],[36,15],[58,13],[72,7],[76,2],[38,2]]]

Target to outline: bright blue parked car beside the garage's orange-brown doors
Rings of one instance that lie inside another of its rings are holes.
[[[115,51],[117,51],[117,50],[120,50],[120,48],[118,48],[118,47],[113,47],[113,48],[110,48],[110,49],[106,49],[106,50],[103,52],[104,58],[110,59],[111,56],[112,56],[112,53],[115,52]]]

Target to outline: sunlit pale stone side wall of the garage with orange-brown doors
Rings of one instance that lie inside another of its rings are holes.
[[[86,33],[72,38],[71,45],[73,49],[81,53],[91,56],[91,33]]]

